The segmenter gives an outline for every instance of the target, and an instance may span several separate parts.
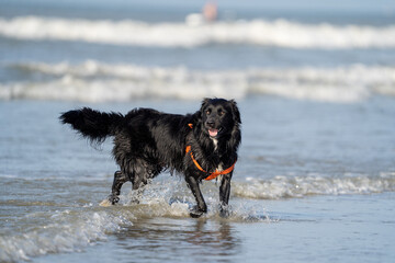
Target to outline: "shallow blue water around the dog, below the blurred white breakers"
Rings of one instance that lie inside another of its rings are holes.
[[[93,106],[127,112],[132,104],[176,113],[194,108],[171,101]],[[208,213],[192,219],[185,183],[167,173],[138,205],[125,184],[119,206],[99,206],[116,167],[111,140],[98,151],[60,126],[59,113],[78,103],[2,102],[1,261],[390,262],[393,105],[380,98],[351,105],[239,101],[244,141],[232,215],[218,216],[217,185],[208,182],[202,188]],[[326,115],[330,121],[320,117]]]

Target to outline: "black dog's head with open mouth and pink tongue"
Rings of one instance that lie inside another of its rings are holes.
[[[240,113],[234,100],[204,99],[201,107],[202,128],[211,138],[233,133],[241,124]]]

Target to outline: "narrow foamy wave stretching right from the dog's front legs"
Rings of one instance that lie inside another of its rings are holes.
[[[248,179],[233,184],[233,194],[244,198],[280,199],[311,195],[374,194],[395,191],[395,173],[380,176],[275,176]]]

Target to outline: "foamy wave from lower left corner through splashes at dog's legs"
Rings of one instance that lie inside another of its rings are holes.
[[[213,183],[205,184],[203,191],[208,206],[205,218],[221,220],[217,187]],[[134,192],[125,191],[116,206],[57,204],[59,209],[66,208],[56,211],[48,210],[48,206],[53,206],[48,202],[7,201],[8,206],[34,205],[43,208],[15,219],[20,221],[18,229],[11,227],[0,230],[0,262],[30,261],[52,253],[82,251],[89,245],[106,241],[111,235],[122,232],[140,218],[190,218],[190,208],[195,204],[190,190],[177,178],[166,182],[160,179],[154,181],[145,188],[139,204],[131,202],[134,197]],[[257,222],[271,219],[261,207],[237,203],[233,206],[229,221]]]

